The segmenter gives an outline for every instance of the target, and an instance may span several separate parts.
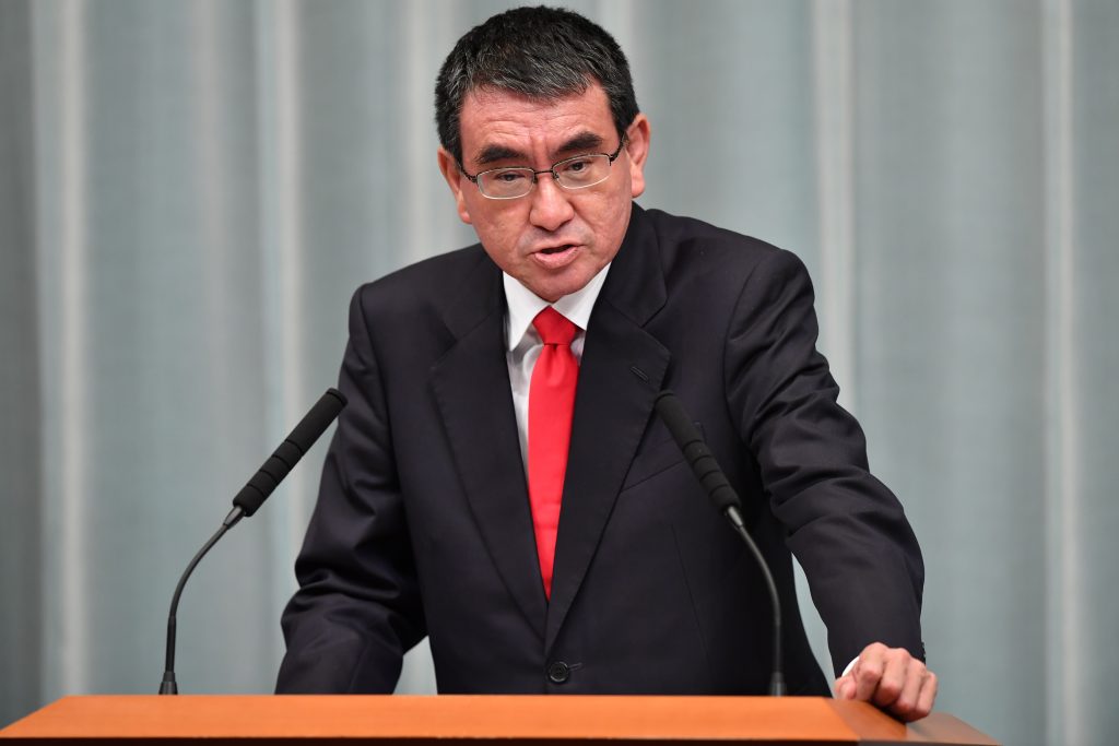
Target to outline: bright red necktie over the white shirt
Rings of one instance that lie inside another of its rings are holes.
[[[575,324],[549,305],[533,319],[533,325],[544,340],[544,349],[528,387],[528,501],[544,593],[551,597],[579,362],[571,351]]]

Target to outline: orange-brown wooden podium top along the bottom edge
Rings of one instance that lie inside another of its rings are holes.
[[[10,743],[996,744],[933,712],[905,726],[865,702],[805,697],[90,696],[3,730]]]

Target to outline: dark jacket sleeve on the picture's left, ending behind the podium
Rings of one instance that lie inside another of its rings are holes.
[[[281,621],[276,692],[388,693],[425,634],[385,393],[364,313],[350,303],[338,419]]]

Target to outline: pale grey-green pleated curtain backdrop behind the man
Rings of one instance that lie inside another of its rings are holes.
[[[472,242],[432,84],[507,4],[0,0],[0,721],[156,691],[179,573],[335,381],[350,293]],[[940,706],[1109,740],[1119,3],[568,4],[631,57],[641,204],[807,262]],[[192,578],[184,691],[270,690],[323,450]]]

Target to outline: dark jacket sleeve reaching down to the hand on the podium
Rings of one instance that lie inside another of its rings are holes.
[[[827,625],[836,674],[871,642],[923,660],[921,550],[869,473],[862,428],[836,402],[812,301],[792,254],[769,253],[754,268],[727,336],[732,410]]]

